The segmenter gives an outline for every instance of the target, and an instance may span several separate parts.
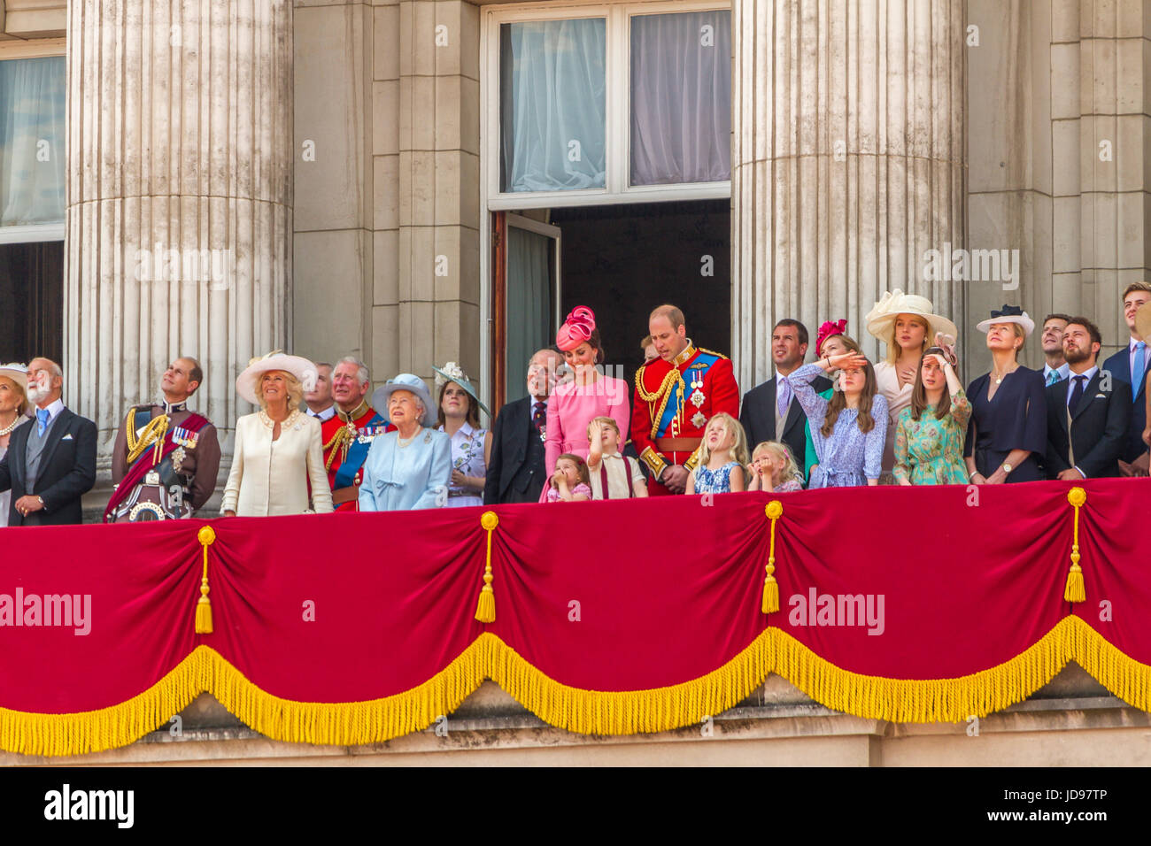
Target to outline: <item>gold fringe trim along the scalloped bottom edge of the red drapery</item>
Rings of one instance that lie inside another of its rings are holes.
[[[1078,617],[1066,617],[998,666],[951,679],[862,676],[821,658],[779,628],[767,628],[723,666],[645,691],[570,687],[485,632],[447,668],[410,691],[365,702],[297,702],[249,681],[199,646],[138,696],[79,714],[0,708],[0,748],[23,755],[81,755],[127,746],[165,725],[201,692],[273,740],[335,746],[382,742],[451,714],[485,678],[550,725],[581,734],[635,734],[698,724],[732,708],[777,673],[828,708],[897,723],[959,723],[1020,702],[1075,661],[1114,695],[1151,710],[1151,665],[1131,660]]]

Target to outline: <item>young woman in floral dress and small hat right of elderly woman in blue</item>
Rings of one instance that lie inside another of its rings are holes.
[[[491,460],[491,433],[480,428],[480,414],[490,412],[480,402],[479,391],[464,368],[448,361],[443,368],[433,367],[440,407],[436,427],[451,439],[451,485],[448,505],[462,508],[483,504],[483,486]]]

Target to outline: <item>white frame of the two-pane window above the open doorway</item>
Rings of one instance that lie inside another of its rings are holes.
[[[731,180],[661,185],[631,185],[631,20],[634,15],[729,12],[729,0],[633,0],[632,2],[514,3],[483,7],[481,22],[480,131],[481,207],[488,211],[561,208],[570,206],[727,199]],[[605,188],[571,191],[504,192],[500,185],[500,26],[521,21],[602,17],[607,26],[605,56]],[[731,58],[729,56],[729,61]]]

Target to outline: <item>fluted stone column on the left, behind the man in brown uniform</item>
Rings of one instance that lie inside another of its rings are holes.
[[[287,0],[69,3],[64,382],[104,468],[180,355],[230,451],[236,374],[291,345],[291,84]]]

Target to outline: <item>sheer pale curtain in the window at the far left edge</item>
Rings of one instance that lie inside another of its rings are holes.
[[[0,226],[64,219],[64,58],[0,62]]]

